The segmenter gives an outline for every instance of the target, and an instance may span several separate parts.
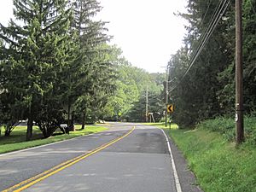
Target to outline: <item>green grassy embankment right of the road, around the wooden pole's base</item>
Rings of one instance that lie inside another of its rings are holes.
[[[164,125],[161,125],[164,128]],[[205,192],[256,191],[256,118],[245,119],[247,141],[234,143],[234,119],[212,119],[195,130],[177,129],[170,136],[183,151]]]

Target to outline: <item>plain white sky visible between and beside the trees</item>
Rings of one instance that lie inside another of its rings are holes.
[[[150,73],[164,72],[172,54],[182,45],[184,20],[173,13],[184,12],[187,0],[100,0],[98,15],[109,21],[111,44],[117,44],[133,66]],[[0,22],[7,25],[12,0],[1,0]]]

